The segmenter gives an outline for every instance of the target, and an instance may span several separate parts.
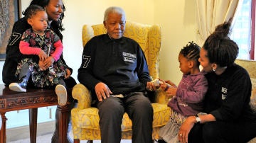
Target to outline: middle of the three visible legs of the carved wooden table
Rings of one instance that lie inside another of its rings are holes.
[[[29,109],[29,130],[31,143],[36,143],[37,115],[38,108]]]

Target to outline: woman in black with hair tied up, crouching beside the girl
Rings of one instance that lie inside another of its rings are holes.
[[[201,49],[199,62],[208,80],[206,115],[189,116],[183,122],[180,142],[248,142],[256,137],[252,84],[247,71],[234,63],[238,45],[228,37],[230,25],[230,21],[218,25]]]

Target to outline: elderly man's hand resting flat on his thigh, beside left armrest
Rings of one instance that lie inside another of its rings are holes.
[[[108,86],[103,82],[96,84],[95,93],[99,101],[110,97],[110,94],[112,94],[110,88],[108,88]]]

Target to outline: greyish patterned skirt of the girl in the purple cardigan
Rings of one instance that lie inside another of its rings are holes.
[[[174,110],[171,110],[171,117],[169,122],[164,127],[161,127],[159,130],[159,136],[161,139],[164,139],[168,143],[176,143],[178,141],[178,130],[180,129],[182,123],[186,120],[187,117],[176,113]]]

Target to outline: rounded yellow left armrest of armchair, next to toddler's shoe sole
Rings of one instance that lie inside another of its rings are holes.
[[[91,107],[90,91],[83,84],[76,84],[72,90],[73,98],[78,100],[78,110]]]

